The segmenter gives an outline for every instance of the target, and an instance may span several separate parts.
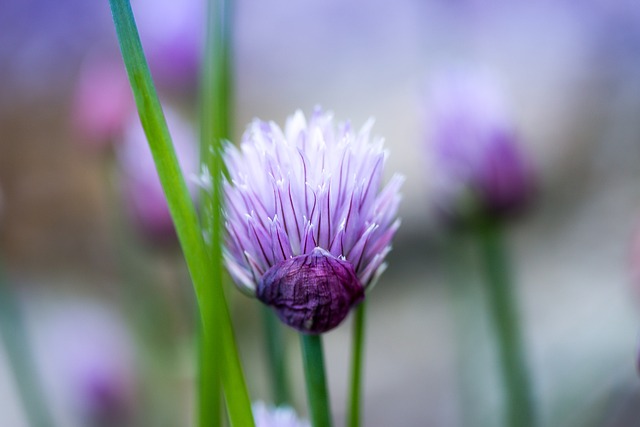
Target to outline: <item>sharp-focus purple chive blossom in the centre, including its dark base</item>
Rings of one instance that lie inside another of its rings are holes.
[[[381,188],[387,152],[372,125],[298,111],[284,131],[256,120],[228,147],[227,266],[301,332],[336,327],[385,268],[402,178]]]

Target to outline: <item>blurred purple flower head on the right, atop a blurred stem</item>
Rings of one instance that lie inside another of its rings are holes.
[[[434,79],[427,122],[436,204],[446,218],[501,216],[526,205],[532,168],[488,74],[456,70]]]

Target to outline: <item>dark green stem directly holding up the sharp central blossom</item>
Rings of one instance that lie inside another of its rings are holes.
[[[300,334],[300,341],[311,425],[313,427],[330,427],[331,410],[324,373],[322,336]]]

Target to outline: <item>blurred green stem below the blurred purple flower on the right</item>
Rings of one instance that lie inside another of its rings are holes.
[[[497,222],[477,229],[486,274],[486,291],[496,334],[504,397],[505,425],[536,425],[534,401],[527,370],[518,305],[508,271],[508,260]]]

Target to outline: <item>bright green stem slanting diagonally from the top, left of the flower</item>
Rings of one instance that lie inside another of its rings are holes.
[[[219,242],[211,244],[210,248],[218,246],[213,254],[207,251],[199,219],[180,171],[160,101],[142,51],[129,0],[109,0],[109,3],[142,127],[153,154],[198,300],[202,330],[199,347],[201,350],[198,399],[200,426],[210,427],[221,424],[219,418],[215,419],[219,412],[208,408],[216,405],[220,400],[218,384],[221,380],[231,424],[251,427],[254,425],[251,401],[220,280],[222,261]],[[212,154],[213,161],[220,162],[215,164],[221,164],[220,152],[214,150]],[[220,169],[210,171],[213,174],[213,188],[220,185]],[[216,196],[215,191],[212,191],[212,194],[214,198],[219,197],[219,195]],[[219,204],[214,206],[213,211],[219,212],[219,210]],[[212,222],[214,225],[220,225],[216,224],[215,220]],[[221,231],[219,227],[214,228],[217,230],[216,233]],[[215,242],[216,237],[219,238],[219,234],[208,236],[212,242]],[[220,363],[219,370],[215,366],[217,363]],[[207,394],[202,395],[202,393]]]

